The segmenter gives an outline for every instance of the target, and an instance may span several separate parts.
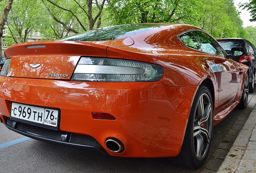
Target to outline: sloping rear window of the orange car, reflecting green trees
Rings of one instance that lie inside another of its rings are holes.
[[[115,40],[147,32],[155,28],[161,28],[166,25],[159,24],[128,24],[128,25],[117,25],[108,26],[104,28],[98,28],[89,30],[83,33],[75,34],[59,40],[68,41],[104,41],[104,40]]]

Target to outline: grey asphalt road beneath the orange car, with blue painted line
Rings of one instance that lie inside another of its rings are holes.
[[[249,99],[254,94],[255,92],[251,93]],[[235,109],[224,121],[214,127],[209,158],[198,170],[175,167],[161,158],[104,156],[81,148],[54,145],[34,139],[18,143],[18,139],[26,140],[27,138],[8,130],[0,123],[0,173],[214,173],[217,168],[213,166],[216,164],[213,159],[216,159],[219,144],[223,142],[237,119],[241,115],[250,114],[250,110]],[[217,167],[220,164],[221,159],[218,159]]]

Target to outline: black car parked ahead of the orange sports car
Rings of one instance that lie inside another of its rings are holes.
[[[249,40],[244,38],[219,38],[216,40],[225,49],[227,54],[231,55],[231,59],[249,66],[249,93],[252,93],[254,91],[256,71],[256,48],[254,47],[254,45]],[[240,47],[241,51],[232,51],[232,48],[234,47]]]

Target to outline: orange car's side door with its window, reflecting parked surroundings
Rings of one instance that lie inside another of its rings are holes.
[[[208,34],[201,31],[193,31],[196,42],[202,52],[208,53],[213,58],[215,68],[213,71],[217,78],[219,111],[228,107],[237,96],[238,86],[241,80],[239,75],[239,63],[225,58],[226,52],[221,46]],[[242,70],[242,69],[241,69]]]

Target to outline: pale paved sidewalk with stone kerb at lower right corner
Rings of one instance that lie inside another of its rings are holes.
[[[248,104],[253,108],[217,173],[256,173],[256,95]]]

